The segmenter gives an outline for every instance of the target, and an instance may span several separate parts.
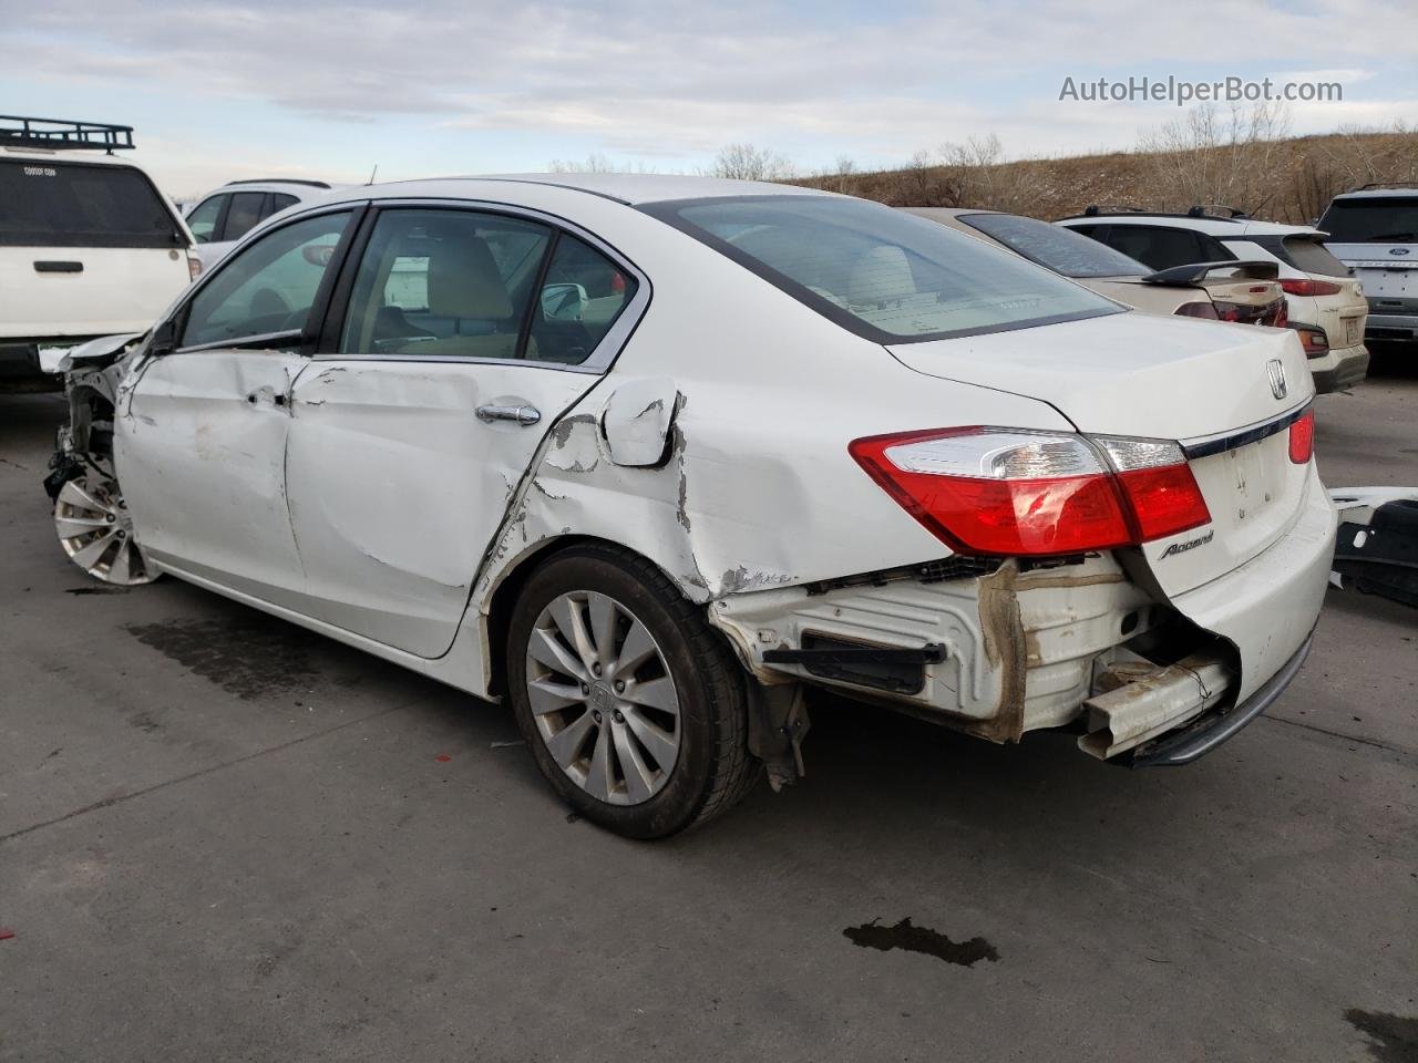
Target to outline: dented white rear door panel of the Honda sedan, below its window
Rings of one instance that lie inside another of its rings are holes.
[[[516,363],[315,361],[295,384],[286,459],[313,615],[423,658],[447,651],[542,438],[597,380]]]

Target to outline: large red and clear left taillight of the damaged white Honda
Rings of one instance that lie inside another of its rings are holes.
[[[1161,439],[947,428],[856,439],[852,456],[951,549],[1078,554],[1211,520],[1185,455]]]

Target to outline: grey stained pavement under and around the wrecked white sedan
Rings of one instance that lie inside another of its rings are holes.
[[[1418,486],[1418,371],[1378,369],[1317,401],[1332,486]],[[1185,768],[824,700],[797,787],[634,843],[506,709],[91,583],[61,415],[0,397],[6,1063],[1418,1060],[1418,611],[1330,591]]]

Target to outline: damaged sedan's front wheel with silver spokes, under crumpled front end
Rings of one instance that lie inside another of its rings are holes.
[[[95,580],[136,587],[157,578],[115,479],[89,472],[67,480],[54,500],[54,530],[69,560]]]

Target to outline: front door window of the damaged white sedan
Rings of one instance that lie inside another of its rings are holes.
[[[349,220],[349,211],[320,214],[241,248],[193,298],[179,346],[303,329]]]

